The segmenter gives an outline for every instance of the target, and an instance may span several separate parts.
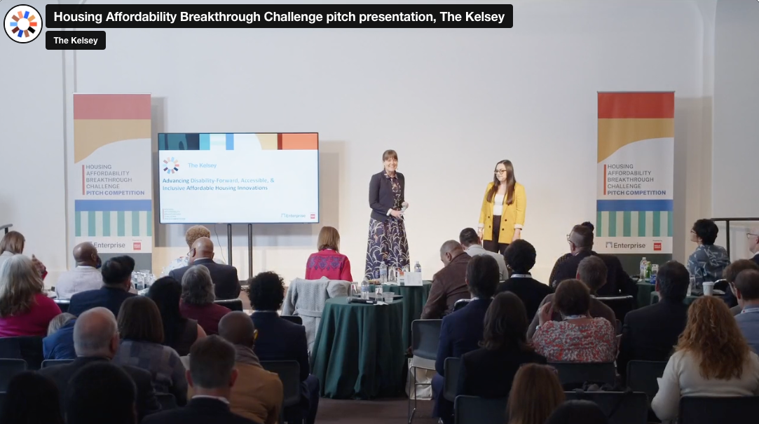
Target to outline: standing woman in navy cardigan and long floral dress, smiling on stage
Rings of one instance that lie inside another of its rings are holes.
[[[369,183],[372,214],[364,273],[367,280],[379,278],[379,264],[383,262],[395,269],[408,265],[408,240],[403,221],[403,211],[408,207],[403,196],[405,177],[395,171],[398,168],[395,150],[386,150],[382,159],[385,169],[372,175]]]

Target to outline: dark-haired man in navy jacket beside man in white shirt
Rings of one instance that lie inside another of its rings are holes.
[[[134,271],[134,259],[131,256],[115,256],[102,264],[102,287],[97,290],[83,291],[71,297],[68,305],[68,313],[80,316],[81,313],[96,306],[109,309],[113,315],[118,316],[121,303],[130,297],[137,296],[129,293],[132,287],[132,272]]]

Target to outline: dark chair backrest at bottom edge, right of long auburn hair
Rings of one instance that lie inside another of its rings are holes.
[[[646,424],[648,397],[640,391],[566,391],[567,400],[590,400],[597,404],[609,424]]]

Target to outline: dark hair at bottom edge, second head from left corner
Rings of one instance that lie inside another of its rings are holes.
[[[65,394],[66,422],[134,424],[137,389],[124,369],[98,361],[74,372]]]

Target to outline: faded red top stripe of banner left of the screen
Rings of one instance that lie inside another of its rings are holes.
[[[150,94],[74,94],[74,119],[150,119]]]

